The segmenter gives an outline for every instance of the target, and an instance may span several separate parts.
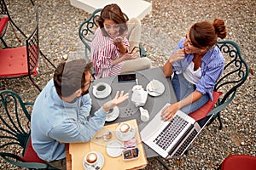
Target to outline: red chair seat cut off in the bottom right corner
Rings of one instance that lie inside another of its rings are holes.
[[[255,170],[256,156],[231,155],[224,159],[218,170]]]

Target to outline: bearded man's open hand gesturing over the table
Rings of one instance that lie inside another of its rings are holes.
[[[117,93],[115,94],[115,97],[112,100],[110,100],[107,103],[105,103],[104,105],[102,105],[102,110],[109,111],[114,106],[123,103],[125,101],[125,99],[128,99],[128,98],[129,98],[129,93],[126,93],[124,95],[124,91],[122,91],[121,94],[119,95],[119,91],[117,91]]]

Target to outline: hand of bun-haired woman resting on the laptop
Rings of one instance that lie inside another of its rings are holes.
[[[172,105],[166,106],[161,113],[161,118],[163,121],[172,121],[173,116],[179,110],[179,103],[174,103]]]

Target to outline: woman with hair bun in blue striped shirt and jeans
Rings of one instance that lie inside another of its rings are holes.
[[[166,77],[172,78],[177,103],[162,111],[162,119],[172,120],[177,110],[187,114],[196,111],[212,98],[215,82],[224,71],[224,56],[216,46],[217,38],[224,38],[227,31],[224,21],[195,23],[180,40],[176,50],[163,66]]]

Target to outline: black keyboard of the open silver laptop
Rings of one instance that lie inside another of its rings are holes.
[[[189,122],[176,115],[156,139],[154,139],[154,143],[158,144],[163,150],[166,150],[188,123]]]

